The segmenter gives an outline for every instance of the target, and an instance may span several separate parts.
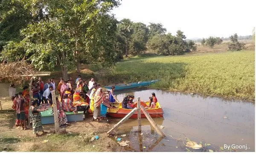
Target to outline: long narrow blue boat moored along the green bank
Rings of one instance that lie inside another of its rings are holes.
[[[159,81],[159,80],[134,82],[134,83],[130,83],[130,84],[116,84],[116,85],[105,86],[105,88],[110,90],[112,86],[115,86],[115,91],[119,91],[119,90],[133,89],[133,88],[138,88],[138,87],[146,87],[146,86],[149,86],[150,84],[153,84],[157,81]]]

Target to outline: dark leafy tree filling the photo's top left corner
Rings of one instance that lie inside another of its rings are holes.
[[[29,23],[47,18],[40,1],[34,1],[35,9],[30,11],[29,0],[1,0],[0,3],[0,52],[9,41],[19,42],[20,30]]]

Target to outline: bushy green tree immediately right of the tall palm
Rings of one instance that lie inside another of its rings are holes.
[[[132,24],[131,41],[129,50],[131,54],[136,55],[143,50],[146,50],[146,43],[148,42],[148,28],[141,22]]]

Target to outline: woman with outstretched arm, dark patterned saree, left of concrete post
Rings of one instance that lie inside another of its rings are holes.
[[[47,132],[44,132],[41,123],[41,112],[44,112],[47,109],[38,109],[36,101],[32,100],[31,102],[32,105],[29,108],[29,116],[32,119],[33,134],[35,134],[36,137],[40,136],[38,135],[38,132],[43,132],[43,134],[47,134]]]

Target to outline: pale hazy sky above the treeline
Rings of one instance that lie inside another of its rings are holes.
[[[122,0],[112,13],[117,20],[162,23],[167,32],[181,30],[192,39],[252,35],[255,9],[256,0]]]

